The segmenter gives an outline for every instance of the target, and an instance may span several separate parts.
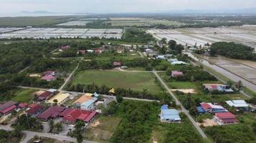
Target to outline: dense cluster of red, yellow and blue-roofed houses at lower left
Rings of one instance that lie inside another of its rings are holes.
[[[63,123],[74,124],[76,121],[81,120],[88,124],[94,117],[96,117],[95,104],[98,101],[99,94],[96,92],[93,94],[86,93],[73,102],[73,108],[63,107],[63,103],[70,98],[69,93],[58,93],[55,89],[49,89],[47,91],[41,91],[36,94],[37,100],[35,103],[17,103],[6,102],[0,104],[1,116],[8,115],[14,110],[24,109],[25,114],[29,114],[32,117],[37,117],[42,122],[47,122],[49,119],[61,119]],[[46,108],[43,102],[49,103],[51,106]]]

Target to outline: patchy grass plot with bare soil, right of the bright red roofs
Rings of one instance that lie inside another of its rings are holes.
[[[89,125],[88,129],[86,129],[85,137],[96,142],[109,142],[120,121],[119,117],[101,116]]]

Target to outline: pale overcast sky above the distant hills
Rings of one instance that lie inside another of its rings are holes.
[[[0,0],[0,13],[53,11],[65,13],[155,12],[246,9],[256,0]]]

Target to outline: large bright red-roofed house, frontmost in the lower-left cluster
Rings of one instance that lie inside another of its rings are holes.
[[[88,124],[94,119],[94,117],[96,117],[95,111],[70,109],[68,114],[63,117],[63,122],[65,122],[66,124],[75,124],[76,121],[80,120]]]

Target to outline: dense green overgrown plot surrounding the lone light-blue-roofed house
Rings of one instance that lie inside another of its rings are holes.
[[[182,119],[182,123],[180,124],[161,123],[158,119],[160,104],[157,102],[134,102],[125,100],[121,104],[113,104],[111,110],[114,110],[114,112],[107,114],[108,117],[103,118],[105,119],[103,121],[104,127],[106,127],[106,122],[111,124],[114,118],[121,119],[121,122],[119,124],[117,123],[118,126],[111,136],[110,142],[203,142],[200,135],[184,114],[180,114]],[[109,115],[111,115],[110,119]],[[108,128],[113,129],[115,126],[116,123],[113,127]],[[97,136],[102,137],[104,134],[97,134]],[[103,140],[101,140],[101,142],[103,142]]]

